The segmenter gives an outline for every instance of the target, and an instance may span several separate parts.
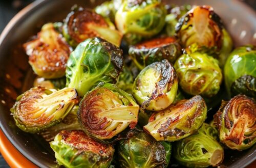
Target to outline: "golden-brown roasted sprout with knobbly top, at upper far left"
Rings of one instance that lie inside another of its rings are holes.
[[[42,26],[36,39],[23,46],[29,55],[29,64],[38,76],[49,79],[65,76],[71,48],[54,30],[53,23]]]

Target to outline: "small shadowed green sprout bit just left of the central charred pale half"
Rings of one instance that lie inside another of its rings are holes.
[[[133,89],[133,74],[130,69],[125,65],[120,73],[116,86],[127,93],[132,93]]]

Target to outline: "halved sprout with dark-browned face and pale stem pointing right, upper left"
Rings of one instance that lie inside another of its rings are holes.
[[[80,42],[100,37],[119,46],[122,36],[115,26],[91,9],[74,6],[63,25],[63,35],[69,44],[76,47]]]

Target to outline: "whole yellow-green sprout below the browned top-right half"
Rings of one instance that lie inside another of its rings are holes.
[[[190,95],[212,97],[220,90],[222,73],[218,61],[206,53],[183,54],[174,68],[182,90]]]

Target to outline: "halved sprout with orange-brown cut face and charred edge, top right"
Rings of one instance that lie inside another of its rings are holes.
[[[222,47],[222,21],[210,6],[197,6],[182,16],[176,32],[183,47],[193,43],[208,48]]]

